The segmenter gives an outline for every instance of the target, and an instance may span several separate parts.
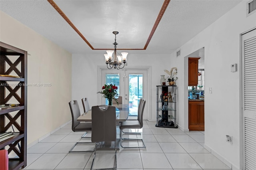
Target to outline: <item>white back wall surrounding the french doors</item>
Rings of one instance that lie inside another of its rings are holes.
[[[97,103],[99,94],[96,94],[101,90],[97,88],[98,83],[101,83],[97,82],[97,67],[106,67],[103,54],[104,51],[102,54],[72,54],[72,100],[78,100],[81,113],[83,112],[81,101],[83,97],[88,97],[90,107],[101,104]],[[147,102],[146,105],[151,109],[152,119],[156,121],[156,85],[160,85],[160,75],[165,74],[164,69],[170,70],[171,68],[170,55],[146,55],[129,52],[127,63],[128,66],[125,68],[152,66],[152,73],[149,73],[149,76],[152,77],[152,89],[148,94],[152,103]]]

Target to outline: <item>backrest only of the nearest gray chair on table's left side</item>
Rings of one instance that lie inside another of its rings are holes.
[[[80,109],[76,100],[72,100],[68,104],[72,115],[72,130],[75,132],[75,127],[80,124],[80,122],[76,120],[80,117]]]

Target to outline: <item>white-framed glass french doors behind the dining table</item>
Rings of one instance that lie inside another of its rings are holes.
[[[129,115],[138,115],[138,103],[140,98],[147,100],[148,91],[148,71],[146,69],[102,69],[101,84],[113,84],[118,87],[118,95],[122,96],[122,103],[129,105]],[[102,97],[101,103],[107,104]],[[147,113],[146,107],[144,113]],[[143,119],[147,119],[147,114],[143,114]]]

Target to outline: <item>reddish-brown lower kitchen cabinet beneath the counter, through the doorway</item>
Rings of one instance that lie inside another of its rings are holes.
[[[204,131],[204,101],[188,101],[188,129]]]

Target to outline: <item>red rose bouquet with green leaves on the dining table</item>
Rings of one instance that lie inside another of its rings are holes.
[[[112,99],[114,99],[116,101],[116,103],[118,104],[117,99],[115,98],[115,96],[118,96],[117,94],[117,86],[116,85],[104,85],[102,87],[102,91],[98,91],[97,93],[103,94],[103,97],[105,97],[106,99],[108,99],[108,105],[112,105]]]

